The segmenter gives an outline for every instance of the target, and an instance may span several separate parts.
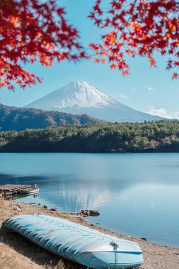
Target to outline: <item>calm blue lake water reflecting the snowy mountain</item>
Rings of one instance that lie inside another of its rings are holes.
[[[39,185],[23,202],[65,212],[99,210],[88,221],[179,246],[179,154],[0,154],[0,184]]]

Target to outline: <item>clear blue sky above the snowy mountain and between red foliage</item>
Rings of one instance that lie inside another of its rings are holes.
[[[57,1],[58,2],[58,1]],[[68,19],[81,35],[81,43],[99,40],[99,30],[88,18],[93,0],[62,0]],[[54,63],[52,67],[28,64],[25,68],[43,77],[42,84],[16,91],[1,89],[0,102],[5,105],[23,106],[45,96],[71,81],[87,81],[117,101],[146,113],[179,118],[179,81],[172,81],[166,71],[166,59],[156,55],[157,68],[150,67],[147,59],[138,57],[128,60],[130,74],[123,77],[120,71],[110,70],[107,64],[93,64],[93,60]]]

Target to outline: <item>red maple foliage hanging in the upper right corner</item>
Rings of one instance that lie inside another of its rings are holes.
[[[113,0],[108,11],[97,0],[89,18],[98,28],[107,28],[102,42],[91,43],[95,62],[129,74],[126,55],[147,57],[156,67],[154,52],[169,55],[166,69],[179,66],[179,2],[175,0]],[[109,30],[110,29],[110,30]],[[174,72],[173,79],[179,78]]]

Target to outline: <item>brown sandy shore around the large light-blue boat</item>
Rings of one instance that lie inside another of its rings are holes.
[[[51,211],[41,206],[25,204],[16,201],[0,200],[0,226],[4,220],[16,216],[18,214],[48,214],[54,217],[63,217],[72,222],[83,224],[104,233],[112,234],[122,239],[136,241],[142,248],[144,253],[144,265],[141,269],[175,269],[179,268],[179,248],[168,246],[161,246],[153,244],[143,239],[136,239],[133,237],[117,234],[108,231],[101,227],[96,227],[93,224],[86,222],[81,214],[62,213],[58,211]],[[76,263],[55,256],[54,254],[45,251],[36,246],[28,239],[14,232],[7,231],[1,226],[0,229],[0,268],[1,269],[79,269],[83,268]]]

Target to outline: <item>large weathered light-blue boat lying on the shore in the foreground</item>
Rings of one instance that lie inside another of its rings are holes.
[[[88,268],[127,269],[144,263],[139,244],[67,219],[25,214],[7,219],[4,227],[22,234],[56,255]]]

